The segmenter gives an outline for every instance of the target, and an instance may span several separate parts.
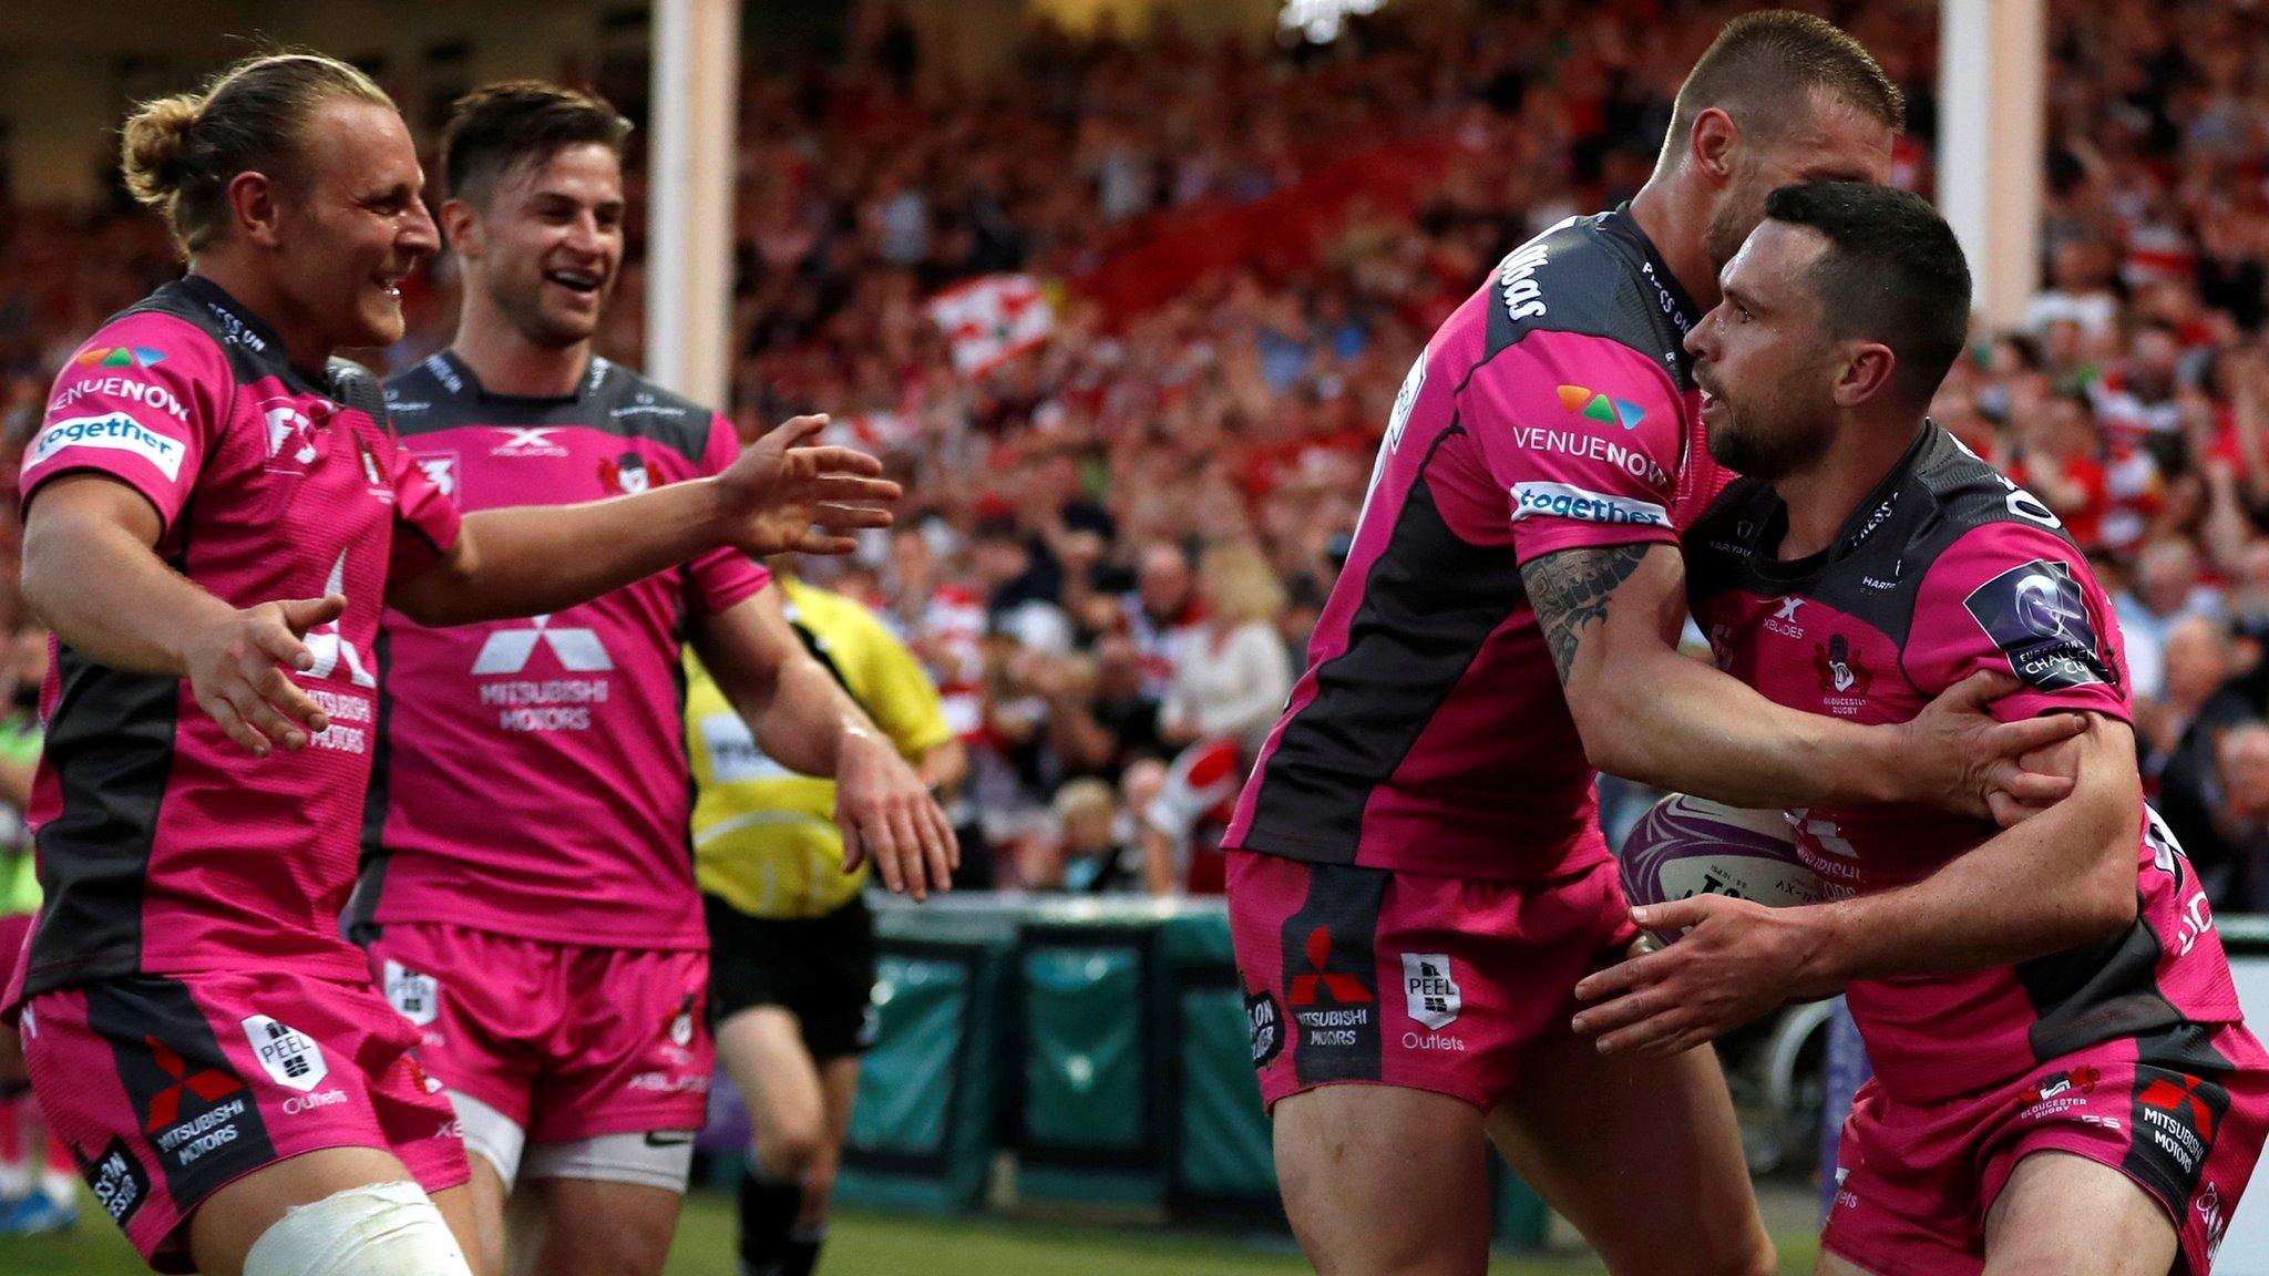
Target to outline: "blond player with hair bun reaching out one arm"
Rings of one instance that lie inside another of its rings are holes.
[[[23,593],[59,640],[7,990],[32,1088],[163,1271],[463,1276],[456,1117],[338,933],[381,604],[551,613],[715,545],[842,552],[896,488],[801,418],[708,479],[458,518],[331,361],[399,341],[436,250],[386,93],[252,57],[141,107],[123,170],[188,275],[70,356],[25,447]]]

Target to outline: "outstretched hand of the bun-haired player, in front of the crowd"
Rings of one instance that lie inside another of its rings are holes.
[[[717,475],[731,545],[756,556],[849,554],[858,529],[889,527],[899,484],[864,452],[810,445],[826,425],[826,415],[790,418]]]

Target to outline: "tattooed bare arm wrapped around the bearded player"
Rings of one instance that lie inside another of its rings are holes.
[[[1561,549],[1520,579],[1602,772],[1729,806],[1929,801],[1967,815],[1988,815],[1994,790],[2042,806],[2072,788],[2015,758],[2078,727],[1983,713],[2015,679],[1979,674],[1913,722],[1858,727],[1783,708],[1681,656],[1686,565],[1675,545]]]

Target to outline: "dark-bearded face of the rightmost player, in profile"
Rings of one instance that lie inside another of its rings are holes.
[[[1754,479],[1802,470],[1833,434],[1838,343],[1808,279],[1822,252],[1808,227],[1756,227],[1718,279],[1724,300],[1686,336],[1709,454]]]

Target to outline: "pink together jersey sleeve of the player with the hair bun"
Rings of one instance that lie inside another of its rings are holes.
[[[227,425],[236,377],[211,336],[161,313],[116,318],[54,379],[23,450],[23,500],[93,470],[134,488],[170,531]]]

